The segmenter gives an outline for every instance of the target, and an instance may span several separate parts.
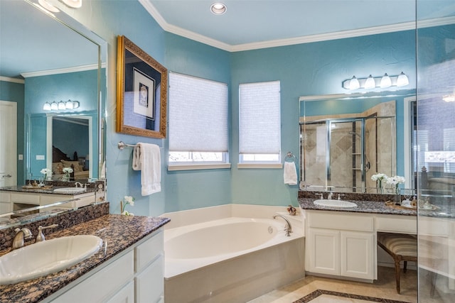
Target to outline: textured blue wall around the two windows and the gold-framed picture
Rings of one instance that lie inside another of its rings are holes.
[[[86,1],[70,15],[108,43],[107,198],[111,211],[117,213],[124,195],[136,198],[132,211],[142,215],[230,202],[296,204],[297,186],[283,184],[282,170],[237,169],[239,83],[281,81],[282,153],[298,155],[300,96],[345,93],[341,82],[353,75],[398,75],[404,71],[410,82],[415,82],[414,31],[226,53],[164,32],[134,0]],[[170,71],[230,84],[231,170],[167,172],[167,139],[115,132],[117,35],[127,36]],[[141,197],[139,172],[131,169],[132,150],[118,150],[119,141],[162,147],[161,192]]]

